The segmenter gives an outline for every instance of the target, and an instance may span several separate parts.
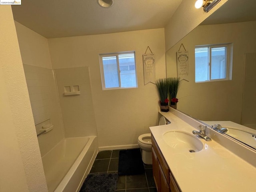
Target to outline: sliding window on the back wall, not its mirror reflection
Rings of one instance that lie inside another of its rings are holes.
[[[103,90],[136,88],[135,52],[100,54]]]

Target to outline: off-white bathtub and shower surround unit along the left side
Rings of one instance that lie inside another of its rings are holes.
[[[51,192],[56,188],[57,191],[70,190],[70,187],[65,189],[65,186],[73,186],[79,190],[98,152],[89,68],[52,70],[26,64],[23,66],[37,134],[46,121],[54,126],[50,132],[38,136],[48,190]],[[79,88],[79,94],[65,95],[66,88],[72,86]],[[84,150],[81,148],[74,154],[72,151],[75,150],[71,148],[74,148],[75,145],[70,145],[70,142],[66,141],[77,141],[79,138],[80,140],[81,138],[95,139],[92,142],[91,140],[87,142],[89,145],[84,144],[82,146]],[[65,155],[56,155],[58,149],[61,149],[61,154],[64,152]],[[69,154],[73,158],[69,157]],[[63,174],[54,172],[56,169],[51,168],[52,164],[66,162],[66,158],[69,163],[64,163],[67,167],[62,167],[66,171]],[[70,161],[71,158],[72,161]],[[83,165],[80,165],[81,163]],[[74,174],[77,174],[76,169],[78,168],[80,174],[72,178]],[[48,179],[49,175],[54,175],[56,179]]]

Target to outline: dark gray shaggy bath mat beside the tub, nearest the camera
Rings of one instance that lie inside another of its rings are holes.
[[[80,192],[115,192],[117,179],[116,173],[90,173]]]

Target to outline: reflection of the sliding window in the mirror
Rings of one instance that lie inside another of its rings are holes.
[[[231,79],[230,46],[231,44],[196,46],[196,82]]]

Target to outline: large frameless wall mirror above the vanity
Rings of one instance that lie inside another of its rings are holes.
[[[224,134],[256,149],[255,1],[228,0],[170,48],[166,52],[167,77],[177,76],[176,53],[181,44],[188,51],[189,75],[188,81],[181,82],[177,109],[210,126],[227,127]],[[220,44],[229,45],[230,79],[195,82],[196,46]]]

